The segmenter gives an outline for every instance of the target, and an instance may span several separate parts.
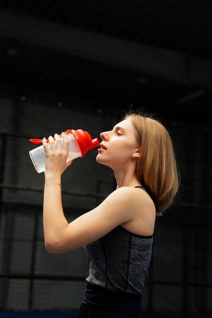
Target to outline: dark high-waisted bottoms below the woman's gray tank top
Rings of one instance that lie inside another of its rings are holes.
[[[141,297],[120,295],[88,286],[78,318],[141,318]]]

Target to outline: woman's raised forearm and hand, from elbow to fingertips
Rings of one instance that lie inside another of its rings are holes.
[[[48,147],[46,138],[42,142],[46,152],[43,225],[47,250],[50,249],[48,247],[49,243],[52,244],[55,240],[60,240],[55,231],[60,233],[61,229],[68,225],[61,201],[61,175],[72,164],[72,161],[66,162],[69,148],[67,136],[62,134],[63,148],[61,138],[57,134],[54,137],[56,145],[53,137],[49,137],[48,144],[51,145],[51,149]],[[55,246],[57,246],[56,241]]]

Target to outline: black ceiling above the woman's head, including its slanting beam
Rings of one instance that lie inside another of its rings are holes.
[[[1,0],[0,94],[211,122],[211,17],[211,0]]]

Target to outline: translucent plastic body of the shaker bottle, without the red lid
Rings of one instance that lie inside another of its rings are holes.
[[[69,140],[69,149],[68,149],[68,156],[67,161],[73,160],[75,158],[78,158],[82,155],[80,146],[75,139],[74,135],[72,133],[67,134],[68,140]],[[61,140],[62,142],[62,140]],[[55,143],[56,144],[56,143]],[[63,146],[63,142],[62,142]],[[51,149],[50,144],[48,145],[49,149]],[[46,152],[44,150],[44,146],[39,146],[37,148],[34,148],[29,151],[29,156],[32,161],[32,164],[34,165],[34,168],[38,173],[45,171],[45,161],[46,161]]]

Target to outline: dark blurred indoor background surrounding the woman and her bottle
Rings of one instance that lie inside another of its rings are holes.
[[[179,197],[156,220],[144,317],[212,315],[211,1],[0,1],[0,317],[76,317],[83,248],[44,247],[44,174],[30,138],[110,130],[130,108],[174,142]],[[115,188],[97,149],[62,176],[68,220]]]

